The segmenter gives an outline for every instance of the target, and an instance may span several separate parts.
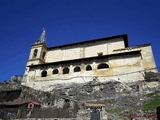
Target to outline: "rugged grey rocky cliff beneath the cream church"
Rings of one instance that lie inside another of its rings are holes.
[[[110,80],[100,83],[96,79],[84,84],[48,85],[35,90],[21,86],[21,77],[0,83],[0,102],[13,99],[37,100],[43,108],[76,108],[77,116],[83,116],[85,103],[103,103],[108,119],[129,119],[135,114],[155,114],[160,106],[160,75],[148,73],[145,80],[126,82]],[[17,90],[17,91],[16,91]],[[12,96],[14,98],[5,97]],[[10,95],[9,95],[10,94]],[[80,115],[81,113],[81,115]]]

